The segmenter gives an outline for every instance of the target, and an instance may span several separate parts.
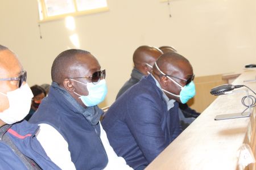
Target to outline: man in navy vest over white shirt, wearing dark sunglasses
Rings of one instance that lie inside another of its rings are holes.
[[[65,50],[52,64],[48,96],[30,121],[38,139],[61,169],[131,169],[115,154],[100,124],[105,70],[89,52]]]

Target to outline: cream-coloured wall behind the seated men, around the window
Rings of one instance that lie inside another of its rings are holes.
[[[81,49],[89,50],[107,70],[110,105],[129,78],[132,55],[139,45],[172,45],[191,61],[197,76],[241,71],[256,63],[255,0],[174,0],[169,17],[160,0],[108,0],[110,10],[76,16],[76,30],[65,20],[41,23],[35,0],[1,1],[0,44],[13,49],[28,71],[28,83],[51,83],[53,59],[75,48],[69,36],[77,33]]]

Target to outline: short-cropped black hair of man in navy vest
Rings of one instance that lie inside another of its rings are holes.
[[[64,74],[67,70],[68,64],[72,63],[75,60],[77,54],[90,54],[85,50],[81,49],[69,49],[60,53],[52,63],[52,82],[60,83],[65,79]]]

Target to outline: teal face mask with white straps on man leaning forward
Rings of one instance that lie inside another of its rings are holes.
[[[158,67],[158,65],[155,63],[156,68],[160,71],[161,74],[165,75]],[[168,92],[167,90],[164,90],[162,88],[162,90],[164,92],[167,92],[167,94],[170,94],[172,96],[176,96],[180,98],[181,103],[185,104],[188,102],[189,99],[191,99],[192,97],[194,97],[196,95],[196,87],[195,87],[195,83],[193,81],[191,81],[189,84],[187,84],[186,86],[181,86],[179,83],[177,83],[174,79],[172,79],[170,76],[167,75],[167,78],[170,79],[172,82],[174,82],[175,84],[177,84],[177,86],[179,86],[181,88],[180,91],[180,95],[175,95],[172,94],[171,92]]]

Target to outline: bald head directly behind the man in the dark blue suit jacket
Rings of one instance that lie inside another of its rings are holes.
[[[153,46],[139,46],[133,54],[134,67],[142,74],[147,75],[147,71],[150,71],[151,68],[148,68],[146,63],[152,66],[162,54],[161,50]]]

